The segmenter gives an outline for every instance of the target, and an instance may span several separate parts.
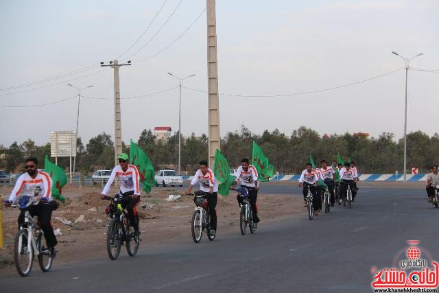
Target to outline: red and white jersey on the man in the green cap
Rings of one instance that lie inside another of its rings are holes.
[[[121,194],[125,194],[128,191],[134,191],[134,194],[140,195],[140,174],[139,169],[137,169],[134,165],[128,165],[128,168],[125,172],[120,165],[117,165],[112,169],[110,178],[108,178],[107,184],[102,190],[102,194],[108,195],[110,191],[110,187],[115,179],[119,178],[119,186],[121,188]]]

